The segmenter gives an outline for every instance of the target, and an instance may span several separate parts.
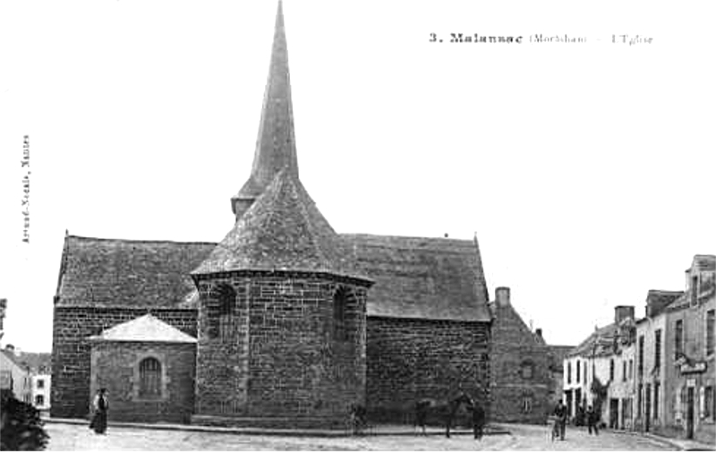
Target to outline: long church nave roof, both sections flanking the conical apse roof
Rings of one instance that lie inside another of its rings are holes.
[[[470,240],[338,235],[358,272],[375,281],[368,315],[489,321],[480,253]],[[217,243],[68,235],[57,306],[195,306],[189,272]],[[165,298],[166,297],[166,298]]]

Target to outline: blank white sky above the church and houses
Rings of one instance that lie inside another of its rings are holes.
[[[301,178],[341,233],[470,239],[552,344],[716,253],[712,3],[284,4]],[[4,344],[52,346],[64,230],[219,241],[276,4],[0,4]],[[586,44],[436,44],[430,32]],[[614,45],[612,34],[653,38]],[[600,39],[600,41],[597,41]],[[22,137],[30,135],[30,244]]]

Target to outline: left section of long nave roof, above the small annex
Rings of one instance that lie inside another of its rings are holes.
[[[67,235],[55,305],[191,308],[189,272],[214,246]]]

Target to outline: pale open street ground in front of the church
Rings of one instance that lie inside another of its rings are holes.
[[[509,425],[511,435],[491,435],[475,441],[470,435],[426,437],[365,436],[311,438],[242,435],[196,431],[158,431],[110,428],[97,435],[85,425],[47,424],[48,450],[674,450],[652,439],[602,432],[598,437],[584,430],[567,431],[565,441],[552,442],[547,428]]]

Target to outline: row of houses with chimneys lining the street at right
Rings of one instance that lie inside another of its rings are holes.
[[[617,306],[564,360],[571,420],[584,422],[592,405],[610,428],[716,440],[714,311],[712,255],[695,256],[685,290],[650,290],[643,318]]]

